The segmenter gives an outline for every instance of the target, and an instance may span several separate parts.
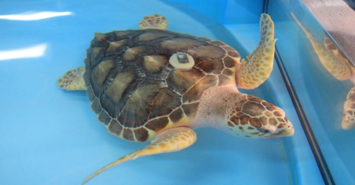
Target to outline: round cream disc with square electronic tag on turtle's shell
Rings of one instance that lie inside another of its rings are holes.
[[[187,53],[175,53],[169,58],[169,63],[175,68],[189,70],[195,65],[195,60]]]

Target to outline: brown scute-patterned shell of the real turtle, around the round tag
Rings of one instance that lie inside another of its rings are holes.
[[[169,64],[185,52],[189,70]],[[240,55],[221,41],[166,30],[95,33],[85,59],[91,108],[108,131],[143,142],[166,128],[188,125],[211,86],[235,80]]]

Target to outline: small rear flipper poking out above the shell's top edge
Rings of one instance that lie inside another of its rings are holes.
[[[166,29],[166,25],[168,22],[166,22],[166,19],[164,16],[154,14],[151,16],[146,16],[143,18],[143,20],[138,24],[140,29]]]

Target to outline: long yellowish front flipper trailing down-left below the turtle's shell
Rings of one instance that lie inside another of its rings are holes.
[[[195,143],[196,139],[197,136],[195,131],[188,127],[175,127],[168,129],[158,134],[157,138],[153,140],[150,145],[143,147],[140,150],[130,153],[124,157],[121,157],[116,161],[108,164],[107,166],[97,170],[95,173],[88,176],[88,178],[86,178],[81,184],[86,183],[94,176],[122,162],[133,160],[142,156],[179,151],[191,146],[193,143]]]

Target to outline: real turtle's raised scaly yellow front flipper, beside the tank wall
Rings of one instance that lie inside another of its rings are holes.
[[[266,13],[260,19],[260,41],[255,51],[242,59],[242,67],[237,76],[237,87],[242,89],[254,89],[261,85],[272,71],[275,41],[274,22]]]

